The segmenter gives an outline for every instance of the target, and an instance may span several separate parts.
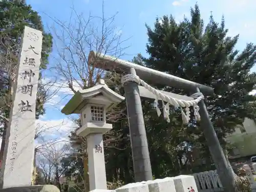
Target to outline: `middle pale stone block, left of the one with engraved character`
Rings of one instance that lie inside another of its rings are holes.
[[[164,179],[156,179],[154,181],[146,182],[150,192],[175,192],[175,185],[173,178],[166,177]]]

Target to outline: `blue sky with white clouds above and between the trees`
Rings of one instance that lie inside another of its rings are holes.
[[[182,20],[183,16],[189,17],[190,7],[198,3],[201,10],[202,18],[207,23],[209,15],[212,11],[215,20],[221,21],[224,14],[226,27],[229,29],[229,35],[234,36],[240,34],[237,49],[242,50],[247,42],[256,42],[256,23],[253,21],[256,16],[255,5],[253,0],[105,0],[104,13],[105,17],[110,17],[119,12],[115,19],[115,26],[121,31],[123,38],[129,38],[124,42],[124,46],[130,46],[125,50],[123,59],[132,59],[137,53],[146,55],[145,45],[147,42],[146,29],[144,24],[153,26],[155,18],[163,15],[174,15],[177,21]],[[92,15],[101,15],[101,0],[27,0],[34,10],[39,12],[46,30],[54,25],[52,18],[60,19],[62,22],[68,21],[70,18],[71,7],[74,5],[78,13],[83,12],[87,17],[89,12]],[[52,17],[52,18],[50,18]],[[56,28],[58,30],[58,28]],[[56,51],[54,49],[54,51]],[[53,52],[54,54],[54,52]],[[54,65],[54,61],[50,59],[50,65]],[[47,72],[46,76],[51,73]],[[56,123],[62,121],[65,116],[60,113],[60,108],[67,100],[61,100],[61,94],[56,95],[49,105],[47,105],[46,115],[40,119],[40,123],[48,123],[48,126],[57,126]],[[71,126],[70,122],[66,127]]]

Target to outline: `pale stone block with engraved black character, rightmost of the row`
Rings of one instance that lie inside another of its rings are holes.
[[[198,192],[194,176],[180,175],[173,179],[176,192]]]

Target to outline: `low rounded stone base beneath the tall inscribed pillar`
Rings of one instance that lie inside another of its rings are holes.
[[[26,187],[9,187],[0,189],[0,192],[60,192],[54,185],[32,185]],[[103,192],[103,191],[102,191]]]

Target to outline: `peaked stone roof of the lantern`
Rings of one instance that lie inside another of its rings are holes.
[[[103,79],[100,79],[96,86],[77,91],[61,110],[61,113],[65,115],[80,114],[84,106],[89,103],[96,105],[103,104],[105,105],[106,111],[109,111],[124,99],[123,96],[112,91]]]

